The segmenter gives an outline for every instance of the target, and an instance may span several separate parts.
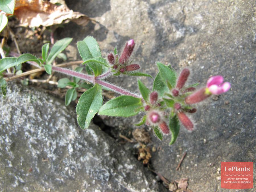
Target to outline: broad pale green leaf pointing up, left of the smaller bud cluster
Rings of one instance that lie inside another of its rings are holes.
[[[96,40],[91,36],[77,42],[77,48],[83,61],[94,57],[101,57],[100,47]]]

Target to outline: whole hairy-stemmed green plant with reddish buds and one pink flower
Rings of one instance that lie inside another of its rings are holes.
[[[194,124],[187,114],[195,113],[194,104],[205,100],[212,94],[221,94],[229,90],[230,83],[223,83],[222,76],[211,77],[204,88],[196,90],[198,84],[186,85],[190,75],[189,69],[183,69],[179,75],[170,65],[156,63],[159,72],[154,78],[151,88],[146,87],[138,80],[141,94],[132,93],[119,86],[105,81],[110,76],[146,76],[151,75],[141,73],[140,65],[130,59],[135,42],[129,40],[121,52],[118,54],[115,48],[109,53],[107,58],[103,58],[96,40],[88,36],[77,43],[80,56],[83,59],[82,65],[75,71],[56,67],[52,65],[55,57],[63,51],[72,41],[71,38],[64,38],[57,41],[49,52],[49,44],[42,46],[42,59],[31,54],[23,54],[18,58],[7,57],[0,60],[0,86],[2,93],[6,94],[7,84],[4,78],[5,70],[20,65],[24,62],[34,61],[36,67],[44,67],[48,74],[52,71],[73,76],[73,81],[63,78],[58,81],[58,87],[70,86],[65,96],[65,104],[69,105],[77,98],[76,89],[79,87],[87,90],[80,96],[76,112],[77,121],[82,129],[90,125],[90,121],[96,113],[99,115],[130,117],[143,112],[141,122],[136,125],[146,125],[152,127],[155,135],[162,140],[163,135],[171,133],[170,144],[176,141],[179,134],[179,122],[189,131],[194,129]],[[49,53],[48,53],[49,52]],[[31,62],[30,62],[31,63]],[[82,73],[86,69],[88,74]],[[85,80],[86,82],[81,82]],[[112,90],[121,94],[103,105],[102,89]]]

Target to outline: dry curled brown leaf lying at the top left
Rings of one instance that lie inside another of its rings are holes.
[[[69,21],[85,26],[90,20],[65,4],[58,6],[44,0],[16,0],[14,15],[20,20],[20,26],[24,27],[51,26]]]

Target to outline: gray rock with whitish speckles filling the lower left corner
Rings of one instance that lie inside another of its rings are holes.
[[[8,83],[0,96],[1,191],[159,191],[153,175],[99,127],[79,129],[75,109]]]

